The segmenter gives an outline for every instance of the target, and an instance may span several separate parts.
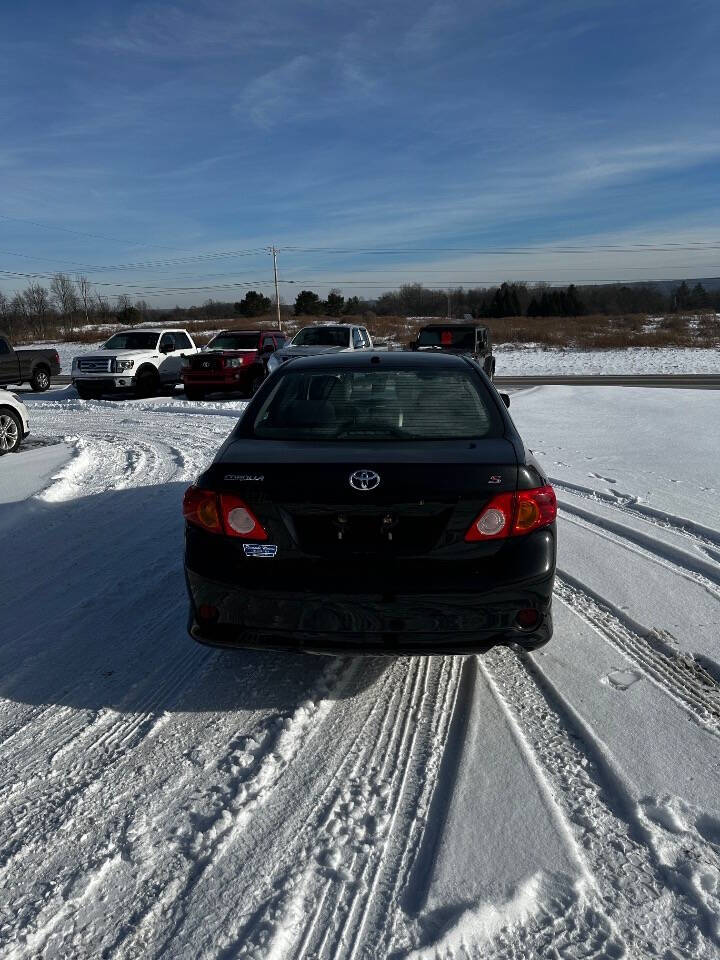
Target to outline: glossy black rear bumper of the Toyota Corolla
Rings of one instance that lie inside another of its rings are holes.
[[[461,654],[507,643],[536,649],[552,636],[554,569],[533,582],[422,594],[250,590],[192,570],[186,570],[186,577],[190,635],[212,646]],[[538,613],[532,630],[515,623],[518,611],[526,608]]]

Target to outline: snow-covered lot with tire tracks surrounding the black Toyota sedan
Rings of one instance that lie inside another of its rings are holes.
[[[40,489],[0,502],[0,955],[720,954],[720,395],[514,394],[555,637],[389,662],[187,638],[242,404],[28,403],[66,446],[0,461]]]

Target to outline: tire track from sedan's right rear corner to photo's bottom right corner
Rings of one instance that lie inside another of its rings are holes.
[[[607,929],[612,950],[603,952],[605,947],[597,944],[591,955],[659,956],[662,945],[675,951],[667,956],[717,957],[716,914],[685,873],[663,858],[604,745],[541,667],[529,655],[496,648],[480,661],[480,669],[575,834],[592,876],[590,907],[596,899],[621,938]],[[693,856],[702,858],[703,850]],[[540,916],[537,923],[515,930],[493,957],[574,956],[573,924],[567,920],[563,925],[557,917]]]

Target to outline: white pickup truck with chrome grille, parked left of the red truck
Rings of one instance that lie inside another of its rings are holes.
[[[75,357],[73,386],[83,400],[116,391],[154,397],[161,387],[181,382],[185,357],[198,352],[187,330],[132,327]]]

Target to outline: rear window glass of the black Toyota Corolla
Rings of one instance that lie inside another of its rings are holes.
[[[500,436],[502,421],[463,371],[288,371],[252,429],[275,440],[449,440]]]

